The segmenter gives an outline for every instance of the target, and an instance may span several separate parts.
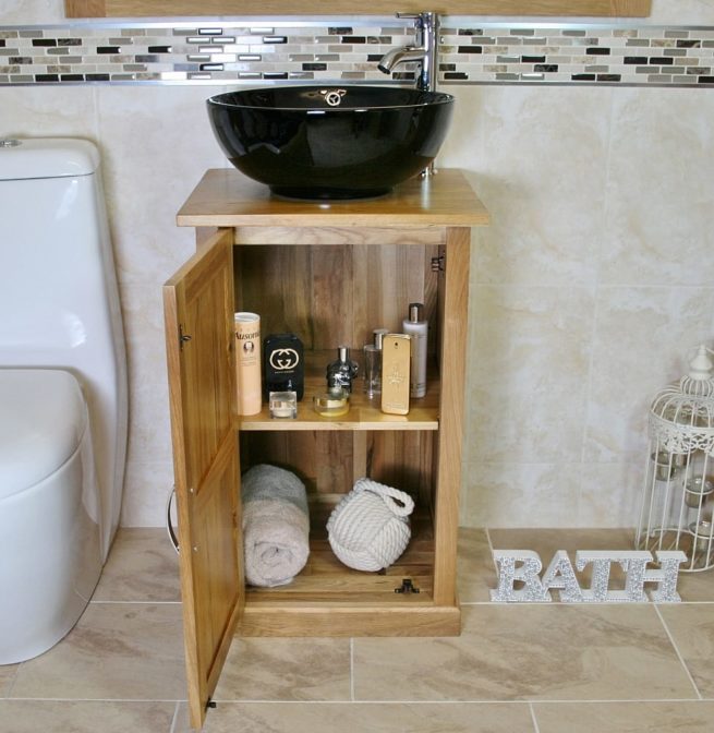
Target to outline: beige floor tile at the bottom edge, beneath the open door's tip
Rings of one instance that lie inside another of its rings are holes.
[[[189,733],[185,706],[174,733]],[[208,711],[204,733],[533,733],[520,702],[226,702]]]

